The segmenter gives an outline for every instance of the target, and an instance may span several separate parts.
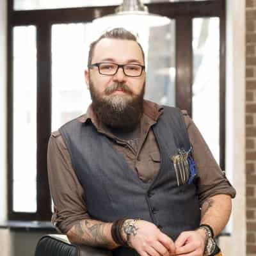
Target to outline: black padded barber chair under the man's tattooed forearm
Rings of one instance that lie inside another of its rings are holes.
[[[101,248],[71,244],[65,235],[47,235],[38,241],[35,256],[112,256],[112,253]]]

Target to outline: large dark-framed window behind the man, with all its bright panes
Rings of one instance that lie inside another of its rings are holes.
[[[95,1],[84,4],[84,0],[83,6],[90,7],[70,8],[81,2],[62,6],[58,4],[71,2],[54,1],[57,5],[52,6],[52,1],[8,1],[10,220],[50,220],[49,135],[90,104],[83,78],[90,26],[95,17],[113,13],[115,6],[92,6]],[[104,5],[120,2],[109,0]],[[225,169],[225,1],[147,3],[150,12],[172,22],[148,31],[145,97],[187,109]],[[49,9],[60,7],[63,9]],[[204,129],[204,124],[209,124],[209,116],[203,112],[209,95],[211,108],[207,111],[211,109],[214,119],[217,116],[220,120],[212,124],[214,137]],[[20,204],[21,200],[27,204]]]

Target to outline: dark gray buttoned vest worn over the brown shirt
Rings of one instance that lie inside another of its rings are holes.
[[[112,222],[140,218],[156,224],[175,240],[180,232],[195,230],[200,223],[196,186],[193,182],[177,186],[171,160],[178,148],[189,150],[188,133],[180,110],[167,106],[152,129],[161,153],[161,168],[150,186],[138,178],[91,122],[75,119],[63,125],[60,132],[93,219]],[[121,247],[114,255],[138,254]]]

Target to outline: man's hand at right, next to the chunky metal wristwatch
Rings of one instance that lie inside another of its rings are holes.
[[[203,256],[206,234],[202,229],[182,232],[175,241],[176,254],[179,256]]]

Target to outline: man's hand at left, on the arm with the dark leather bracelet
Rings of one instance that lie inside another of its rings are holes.
[[[148,221],[136,221],[136,234],[131,235],[131,247],[141,256],[169,256],[174,255],[175,245],[170,237],[163,234],[156,225]],[[138,228],[138,229],[137,229]],[[123,236],[126,239],[126,234]]]

